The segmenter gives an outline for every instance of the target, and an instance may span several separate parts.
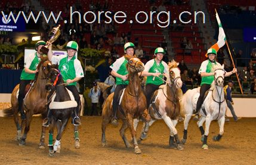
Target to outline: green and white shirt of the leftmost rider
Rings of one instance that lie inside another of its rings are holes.
[[[35,52],[35,54],[29,54],[29,56],[24,61],[24,67],[27,67],[30,70],[36,70],[38,67],[41,58],[39,58]],[[35,79],[35,73],[26,73],[25,69],[22,70],[20,75],[21,80],[33,80]]]

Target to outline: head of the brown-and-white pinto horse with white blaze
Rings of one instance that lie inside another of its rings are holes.
[[[178,63],[174,60],[171,61],[171,63],[168,63],[169,68],[169,80],[172,84],[176,86],[176,88],[181,88],[182,81],[180,77],[180,69],[178,69]]]

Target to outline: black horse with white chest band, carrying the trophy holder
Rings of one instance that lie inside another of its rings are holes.
[[[66,87],[63,77],[57,70],[58,66],[53,65],[54,69],[50,69],[48,74],[48,84],[45,86],[47,91],[54,90],[54,94],[50,101],[51,110],[51,124],[49,128],[49,155],[53,156],[54,152],[60,152],[60,141],[64,129],[67,126],[67,122],[72,116],[73,112],[76,110],[77,102],[75,98]],[[79,106],[79,113],[81,111],[81,104]],[[57,137],[53,145],[53,130],[57,127]],[[75,134],[75,148],[80,148],[80,139],[78,136],[78,126],[74,126]]]

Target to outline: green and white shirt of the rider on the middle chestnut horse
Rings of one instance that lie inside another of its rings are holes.
[[[124,75],[128,74],[127,63],[128,63],[128,61],[123,56],[121,58],[118,58],[118,60],[116,60],[115,63],[113,63],[110,66],[110,68],[113,71],[116,71],[116,73],[121,74],[122,76],[124,76]],[[129,84],[128,80],[124,81],[121,78],[116,77],[116,85],[128,85],[128,84]]]

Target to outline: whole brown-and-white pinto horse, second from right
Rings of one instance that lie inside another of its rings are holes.
[[[154,92],[152,100],[150,101],[149,114],[152,120],[149,123],[143,124],[140,139],[146,139],[149,126],[151,126],[156,120],[163,119],[165,124],[169,127],[169,146],[183,150],[180,139],[178,138],[177,129],[175,128],[180,115],[180,102],[179,96],[182,95],[180,90],[182,81],[180,77],[180,69],[178,69],[178,63],[174,60],[168,64],[169,74],[167,74],[165,85]],[[134,120],[134,127],[137,128],[139,120]],[[174,143],[174,138],[175,142]]]

